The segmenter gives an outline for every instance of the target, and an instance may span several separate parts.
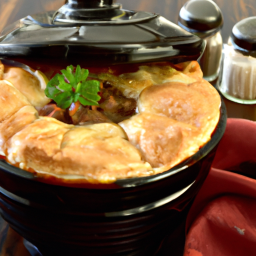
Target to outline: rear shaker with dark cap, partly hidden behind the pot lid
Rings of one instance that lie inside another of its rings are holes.
[[[179,12],[178,25],[206,40],[204,53],[198,62],[203,78],[209,82],[214,81],[219,74],[222,24],[222,12],[212,0],[189,0]]]

